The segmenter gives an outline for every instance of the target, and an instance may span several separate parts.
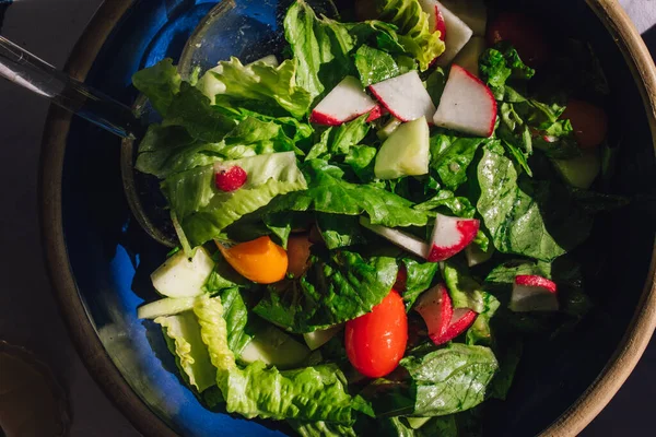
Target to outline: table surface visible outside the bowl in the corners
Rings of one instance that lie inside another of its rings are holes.
[[[112,1],[112,0],[109,0]],[[61,68],[102,0],[17,0],[2,35]],[[0,2],[1,3],[1,2]],[[621,0],[656,52],[656,1]],[[139,435],[81,363],[59,317],[42,259],[37,167],[48,103],[0,81],[0,339],[34,351],[59,378],[73,413],[71,436]],[[582,434],[654,435],[656,341],[626,383]]]

